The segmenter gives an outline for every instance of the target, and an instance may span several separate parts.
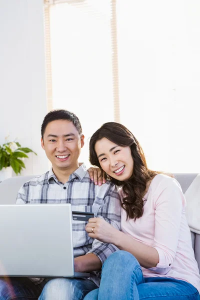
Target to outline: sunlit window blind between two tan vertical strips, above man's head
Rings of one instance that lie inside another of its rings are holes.
[[[116,1],[44,4],[48,109],[76,113],[88,143],[102,123],[120,121]]]

